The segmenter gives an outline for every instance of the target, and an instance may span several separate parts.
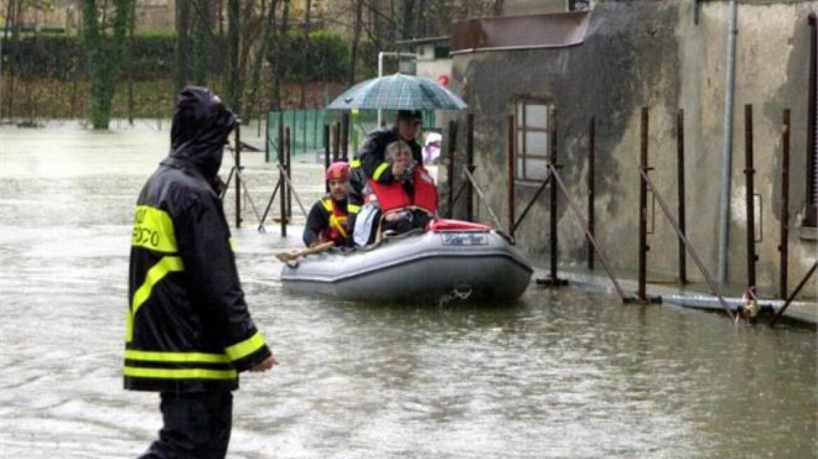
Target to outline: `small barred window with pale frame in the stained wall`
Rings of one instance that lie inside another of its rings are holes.
[[[551,109],[544,100],[515,102],[515,180],[539,184],[548,176],[551,153]]]

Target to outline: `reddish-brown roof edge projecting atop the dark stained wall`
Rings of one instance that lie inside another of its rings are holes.
[[[588,11],[501,16],[452,24],[452,54],[573,47],[585,40]]]

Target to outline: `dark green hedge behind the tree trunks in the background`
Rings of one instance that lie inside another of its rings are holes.
[[[309,56],[305,60],[305,38],[289,33],[282,62],[285,78],[291,81],[339,81],[349,74],[349,50],[337,33],[318,30],[310,33]],[[274,44],[272,46],[274,48]],[[79,37],[43,34],[20,39],[20,50],[12,60],[11,40],[3,42],[3,69],[11,68],[22,78],[56,78],[63,81],[84,78],[86,60]],[[268,59],[274,59],[271,50]],[[170,78],[176,65],[176,36],[140,35],[133,44],[133,78],[152,80]],[[211,74],[218,74],[217,60],[209,60]]]

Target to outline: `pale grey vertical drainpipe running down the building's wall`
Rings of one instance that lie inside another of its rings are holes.
[[[733,97],[735,96],[735,36],[739,33],[736,0],[730,0],[727,32],[727,71],[724,94],[724,149],[721,151],[721,196],[719,199],[718,279],[727,282],[727,249],[730,236],[730,174],[733,169]]]

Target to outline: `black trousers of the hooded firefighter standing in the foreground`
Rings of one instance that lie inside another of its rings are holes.
[[[230,443],[233,394],[163,392],[164,426],[140,459],[223,459]]]

